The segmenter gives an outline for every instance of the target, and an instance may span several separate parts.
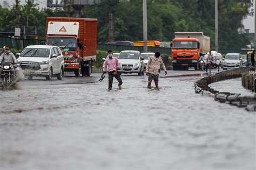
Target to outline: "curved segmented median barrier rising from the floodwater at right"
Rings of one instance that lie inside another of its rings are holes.
[[[237,105],[238,107],[246,107],[248,111],[256,111],[256,94],[252,95],[241,95],[231,93],[219,93],[219,91],[208,87],[208,84],[219,82],[228,79],[235,79],[242,76],[242,84],[244,87],[254,88],[256,80],[248,75],[250,68],[237,68],[232,70],[226,70],[224,72],[217,73],[208,77],[204,77],[194,83],[194,89],[196,93],[203,95],[214,96],[215,101],[230,103]],[[248,76],[247,76],[248,75]]]

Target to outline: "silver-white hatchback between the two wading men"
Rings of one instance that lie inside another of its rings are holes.
[[[137,73],[144,75],[143,58],[139,51],[126,50],[118,56],[120,73]]]

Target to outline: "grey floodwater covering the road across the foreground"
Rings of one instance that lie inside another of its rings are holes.
[[[255,169],[255,113],[195,94],[204,76],[161,72],[159,90],[124,74],[108,91],[92,74],[1,91],[1,169]]]

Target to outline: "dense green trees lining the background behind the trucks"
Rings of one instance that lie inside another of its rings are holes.
[[[158,0],[147,1],[147,39],[171,41],[174,32],[204,32],[211,37],[214,48],[215,22],[214,0]],[[239,33],[241,20],[253,11],[252,0],[219,0],[219,48],[238,49],[250,40],[245,33]],[[113,16],[113,36],[115,40],[143,40],[143,3],[141,0],[103,0],[102,4],[84,8],[83,18],[98,19],[98,42],[109,40],[109,14]],[[14,32],[16,25],[15,6],[3,9],[0,6],[0,31]],[[19,8],[20,26],[37,26],[38,38],[45,38],[46,17],[75,17],[72,8],[39,9],[34,0],[26,0]],[[28,20],[27,20],[28,19]]]

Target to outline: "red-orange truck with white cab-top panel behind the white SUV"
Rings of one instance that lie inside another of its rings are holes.
[[[96,61],[97,19],[47,17],[45,44],[60,47],[65,72],[90,76]]]

